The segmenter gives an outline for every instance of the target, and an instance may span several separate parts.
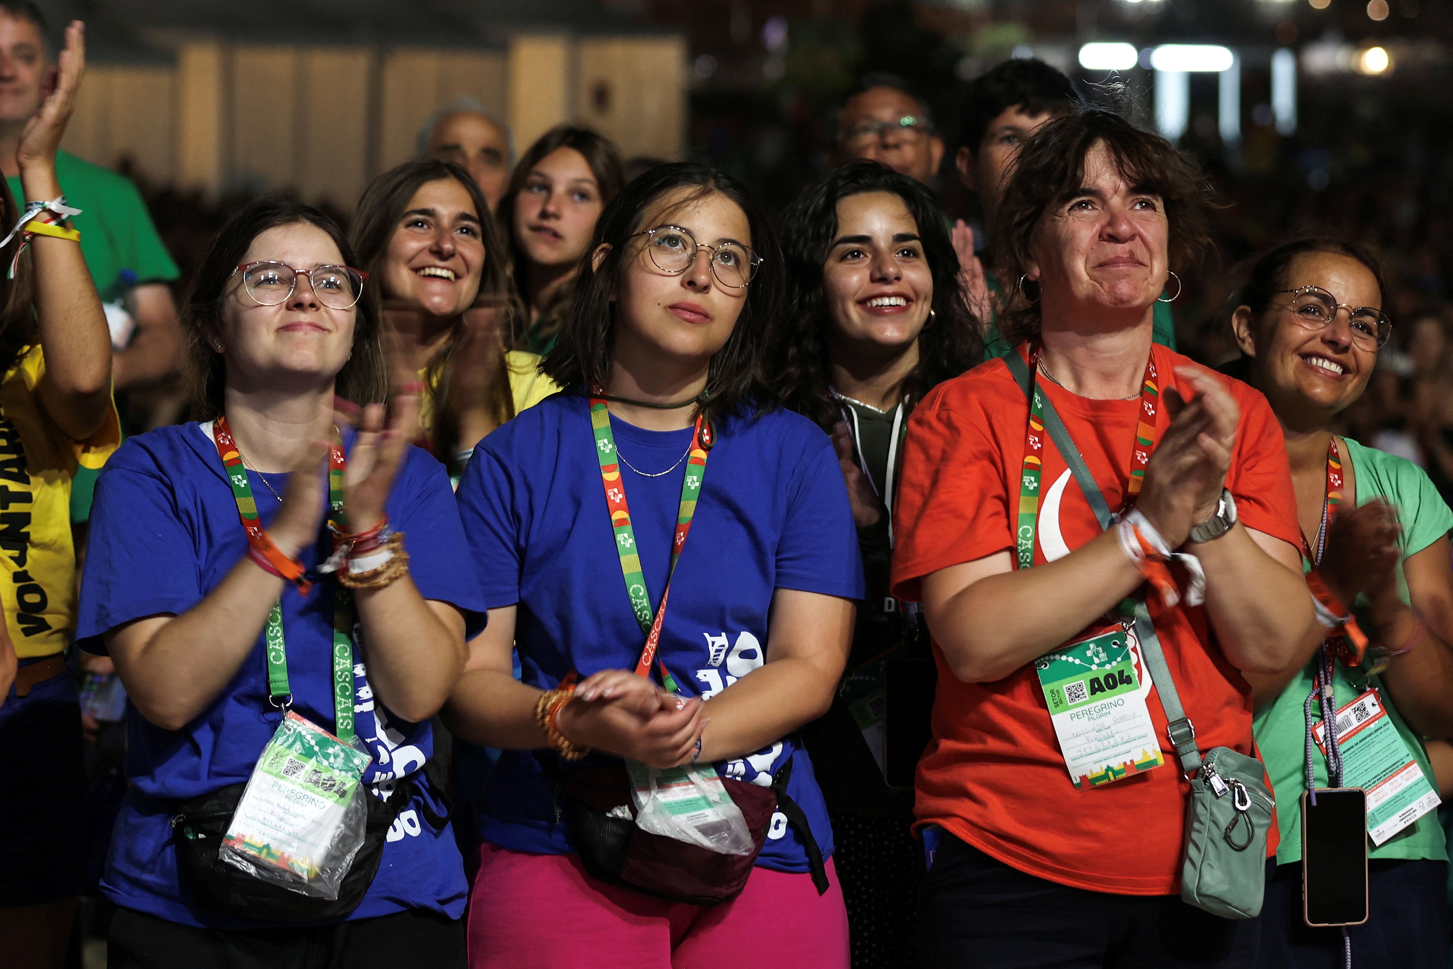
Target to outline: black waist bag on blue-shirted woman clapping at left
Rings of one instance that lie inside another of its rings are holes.
[[[430,767],[433,761],[426,763],[426,770]],[[389,827],[418,790],[418,784],[410,776],[395,782],[388,800],[372,792],[365,793],[368,824],[363,828],[363,846],[343,876],[339,896],[327,899],[264,882],[219,857],[218,850],[246,787],[246,783],[230,784],[180,802],[171,818],[171,844],[176,846],[177,873],[182,885],[190,891],[193,902],[234,918],[267,923],[327,921],[343,918],[357,908],[368,893],[368,886],[373,883],[373,876],[378,875]],[[442,798],[443,787],[437,784],[433,787]],[[449,822],[448,799],[443,815],[434,814],[427,798],[420,798],[418,803],[429,824],[442,831]]]

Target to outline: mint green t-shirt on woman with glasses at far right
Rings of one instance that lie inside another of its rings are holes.
[[[1356,440],[1347,442],[1347,461],[1351,462],[1356,475],[1357,504],[1363,506],[1373,498],[1383,498],[1398,508],[1398,522],[1402,524],[1402,559],[1417,555],[1453,529],[1453,511],[1449,510],[1428,475],[1407,458],[1398,458],[1382,450],[1364,447]],[[1309,562],[1303,562],[1309,567]],[[1408,584],[1402,577],[1402,561],[1398,561],[1398,596],[1408,601]],[[1276,814],[1282,825],[1282,847],[1276,853],[1279,864],[1290,864],[1302,860],[1302,792],[1306,789],[1306,715],[1303,703],[1312,692],[1312,677],[1315,671],[1312,662],[1282,692],[1276,700],[1264,706],[1255,716],[1254,729],[1257,745],[1261,748],[1261,760],[1267,766],[1271,777],[1271,787],[1276,792]],[[1364,677],[1360,670],[1335,664],[1332,692],[1335,703],[1341,708],[1367,692],[1369,686],[1377,687],[1382,693],[1388,716],[1398,734],[1407,742],[1418,760],[1428,783],[1433,780],[1433,769],[1428,766],[1422,741],[1408,729],[1398,713],[1393,699],[1383,690],[1379,677]],[[1318,706],[1312,706],[1312,716],[1321,719]],[[1327,786],[1327,758],[1321,751],[1312,757],[1312,771],[1318,787]],[[1369,841],[1369,857],[1373,859],[1404,859],[1404,860],[1444,860],[1443,828],[1438,827],[1437,812],[1425,814],[1415,824],[1408,825],[1382,847],[1373,847]]]

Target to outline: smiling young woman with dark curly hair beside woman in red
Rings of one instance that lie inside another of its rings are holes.
[[[883,703],[889,664],[927,649],[888,591],[889,517],[908,415],[982,347],[949,232],[918,182],[851,161],[798,196],[783,225],[789,301],[772,340],[773,385],[785,407],[833,434],[867,584],[843,689],[804,737],[833,816],[853,962],[892,965],[912,952],[912,787],[911,776],[889,787],[883,716],[867,710]],[[908,734],[901,747],[917,737],[921,750],[923,712],[894,725],[895,737]]]

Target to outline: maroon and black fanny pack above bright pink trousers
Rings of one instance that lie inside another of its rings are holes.
[[[770,787],[721,779],[747,821],[753,838],[750,854],[721,854],[642,830],[635,822],[631,776],[623,763],[562,770],[548,754],[539,760],[555,777],[556,805],[580,863],[593,879],[671,902],[718,905],[747,888],[757,854],[767,841],[772,815],[780,811],[802,837],[818,895],[828,888],[822,850],[802,808],[788,796],[792,757],[777,770]]]

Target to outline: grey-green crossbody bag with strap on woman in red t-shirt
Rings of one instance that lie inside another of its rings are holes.
[[[1027,397],[1030,372],[1019,353],[1004,360]],[[1110,506],[1085,466],[1049,397],[1043,398],[1045,430],[1094,510],[1101,529],[1113,524]],[[1266,767],[1229,747],[1200,753],[1196,726],[1181,706],[1159,636],[1144,599],[1135,601],[1135,635],[1151,681],[1165,710],[1165,735],[1190,783],[1186,843],[1181,853],[1181,899],[1222,918],[1255,918],[1266,893],[1267,832],[1276,802],[1266,786]]]

